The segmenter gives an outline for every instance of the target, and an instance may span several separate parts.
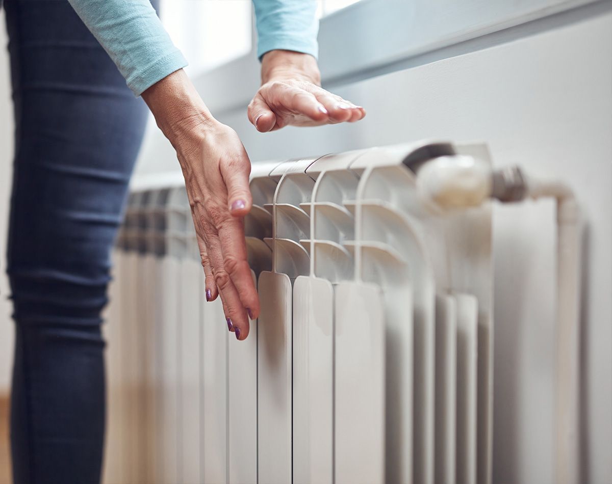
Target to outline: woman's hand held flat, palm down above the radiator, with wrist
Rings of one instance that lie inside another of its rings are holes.
[[[359,121],[365,109],[323,89],[314,57],[274,50],[261,61],[261,87],[248,105],[258,131],[287,125],[318,126]]]

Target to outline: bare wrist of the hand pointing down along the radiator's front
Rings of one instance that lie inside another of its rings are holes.
[[[153,84],[142,97],[173,145],[217,122],[182,69]]]

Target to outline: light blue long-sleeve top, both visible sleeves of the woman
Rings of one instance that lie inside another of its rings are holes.
[[[135,95],[187,65],[149,0],[69,2],[113,59]],[[317,56],[316,2],[253,0],[253,4],[260,59],[275,49]]]

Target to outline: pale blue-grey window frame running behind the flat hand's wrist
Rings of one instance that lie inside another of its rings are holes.
[[[401,62],[413,57],[597,1],[361,0],[320,20],[319,68],[323,84],[346,84],[381,71],[398,70],[404,68]],[[444,13],[440,15],[442,9]],[[393,35],[379,35],[380,32]],[[255,35],[253,25],[250,54],[194,80],[213,114],[244,109],[258,89]]]

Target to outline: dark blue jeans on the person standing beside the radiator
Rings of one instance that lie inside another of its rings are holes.
[[[8,264],[17,484],[100,481],[100,311],[146,106],[65,0],[4,0],[15,108]]]

